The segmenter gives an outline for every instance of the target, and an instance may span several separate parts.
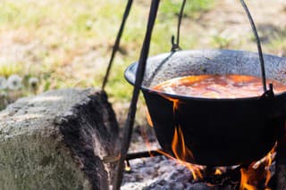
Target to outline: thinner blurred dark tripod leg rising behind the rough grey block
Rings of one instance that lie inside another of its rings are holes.
[[[111,67],[112,67],[113,62],[114,62],[115,54],[116,54],[116,52],[119,49],[119,45],[120,45],[120,40],[122,38],[123,29],[124,29],[124,26],[125,26],[125,22],[127,21],[127,18],[129,16],[129,12],[130,12],[130,8],[131,8],[132,3],[133,3],[133,0],[129,0],[127,2],[127,4],[126,4],[125,11],[124,11],[123,18],[122,18],[122,24],[120,26],[120,29],[119,29],[118,33],[117,33],[117,37],[115,39],[115,43],[114,43],[114,47],[113,47],[113,52],[112,52],[110,60],[108,62],[107,70],[105,72],[105,78],[104,78],[104,81],[103,81],[102,87],[101,87],[102,90],[105,89],[105,85],[106,85],[106,83],[108,81],[109,73],[110,73]]]

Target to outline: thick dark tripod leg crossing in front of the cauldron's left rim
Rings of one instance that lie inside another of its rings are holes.
[[[152,36],[152,31],[156,21],[156,13],[160,4],[160,0],[152,0],[152,4],[149,11],[149,17],[147,21],[147,31],[144,38],[144,42],[141,49],[141,54],[139,58],[139,66],[136,71],[136,80],[133,88],[133,94],[130,102],[130,108],[128,112],[127,119],[123,128],[123,138],[122,138],[122,147],[120,153],[120,159],[117,164],[117,172],[114,178],[114,190],[119,190],[122,184],[123,170],[124,170],[124,161],[126,160],[127,152],[130,146],[130,138],[133,130],[137,102],[139,99],[139,90],[144,78],[144,73],[147,64],[147,55],[149,53],[150,41]]]

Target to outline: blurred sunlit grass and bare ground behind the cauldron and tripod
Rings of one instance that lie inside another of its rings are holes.
[[[123,71],[139,59],[151,1],[134,0],[106,87],[119,121],[132,87]],[[286,56],[286,1],[248,0],[263,50]],[[22,96],[65,87],[101,87],[127,0],[1,0],[0,110]],[[181,0],[162,0],[150,55],[169,52]],[[239,0],[188,0],[182,49],[257,51]],[[139,102],[137,123],[145,121]]]

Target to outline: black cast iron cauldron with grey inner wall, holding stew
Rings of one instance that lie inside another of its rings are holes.
[[[125,71],[134,85],[138,62]],[[267,78],[286,85],[286,58],[265,54]],[[268,153],[285,126],[286,92],[272,98],[208,99],[158,93],[151,88],[171,78],[201,74],[244,74],[260,77],[258,54],[231,50],[179,51],[147,60],[141,90],[163,150],[172,153],[175,126],[180,126],[194,159],[207,166],[257,161]],[[274,87],[275,88],[275,87]],[[179,99],[173,112],[172,101]]]

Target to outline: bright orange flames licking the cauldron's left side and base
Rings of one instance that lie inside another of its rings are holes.
[[[173,103],[172,112],[175,113],[179,109],[179,105],[181,102],[175,98],[167,97],[165,95],[162,96]],[[147,121],[149,125],[153,127],[153,122],[148,112],[147,112]],[[147,139],[146,133],[144,136],[145,139]],[[147,140],[146,140],[146,145],[148,147],[151,146],[149,145]],[[148,148],[148,150],[150,149]],[[263,158],[261,161],[253,162],[252,164],[250,164],[248,169],[240,169],[240,174],[241,174],[240,190],[257,190],[258,183],[261,183],[263,180],[265,180],[265,190],[270,190],[270,188],[268,187],[268,183],[272,176],[269,168],[273,162],[275,150],[276,150],[276,145],[273,147],[273,150],[270,153],[268,153],[265,156],[265,158]],[[164,156],[174,161],[177,161],[178,164],[188,168],[194,180],[203,178],[202,171],[206,169],[206,166],[200,166],[187,162],[187,161],[195,161],[195,158],[193,153],[185,145],[183,132],[180,126],[175,126],[172,138],[172,153],[174,157],[168,153],[165,153],[164,151],[158,150],[158,153],[162,153]],[[223,169],[225,168],[215,169],[214,175],[222,175],[223,172],[225,172]]]

